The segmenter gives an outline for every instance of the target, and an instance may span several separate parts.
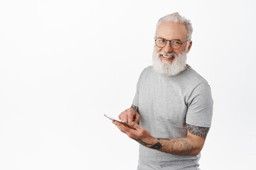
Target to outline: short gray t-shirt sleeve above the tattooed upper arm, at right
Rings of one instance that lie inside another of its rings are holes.
[[[202,83],[193,89],[188,98],[188,110],[186,114],[186,123],[205,128],[210,128],[213,118],[213,98],[210,86]]]

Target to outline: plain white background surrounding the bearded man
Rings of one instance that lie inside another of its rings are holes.
[[[188,64],[213,124],[201,169],[255,166],[254,1],[0,1],[0,169],[136,169],[137,142],[104,113],[129,108],[156,22],[193,24]]]

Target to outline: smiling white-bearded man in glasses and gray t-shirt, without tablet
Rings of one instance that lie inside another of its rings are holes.
[[[153,66],[143,70],[132,107],[113,121],[139,146],[138,169],[198,169],[213,115],[210,86],[186,64],[191,22],[178,13],[156,26]]]

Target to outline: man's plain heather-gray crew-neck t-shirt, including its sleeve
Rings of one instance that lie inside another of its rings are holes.
[[[213,99],[210,86],[190,66],[166,77],[152,66],[143,70],[132,102],[139,107],[139,125],[157,138],[186,137],[186,124],[210,128]],[[179,156],[139,145],[138,169],[198,169],[197,156]]]

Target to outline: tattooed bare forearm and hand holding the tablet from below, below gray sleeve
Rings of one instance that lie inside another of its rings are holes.
[[[204,142],[206,140],[209,128],[203,128],[194,125],[187,125],[188,135],[186,137],[174,139],[162,139],[151,137],[148,130],[132,123],[136,130],[125,127],[124,125],[114,122],[122,132],[126,133],[129,137],[139,142],[139,144],[157,149],[161,152],[177,155],[195,156],[201,152]]]

